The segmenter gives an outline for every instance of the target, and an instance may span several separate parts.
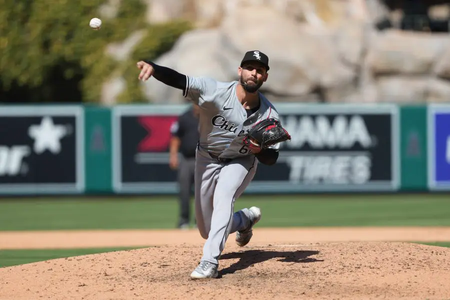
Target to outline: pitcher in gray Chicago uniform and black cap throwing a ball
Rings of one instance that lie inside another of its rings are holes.
[[[137,67],[139,80],[153,76],[200,107],[195,217],[206,242],[190,277],[215,278],[228,235],[236,232],[237,245],[246,245],[261,217],[258,207],[233,212],[234,201],[253,179],[258,162],[274,164],[280,142],[290,139],[276,109],[258,91],[267,80],[268,57],[261,51],[246,52],[237,68],[239,79],[231,82],[181,74],[152,61],[139,61]]]

